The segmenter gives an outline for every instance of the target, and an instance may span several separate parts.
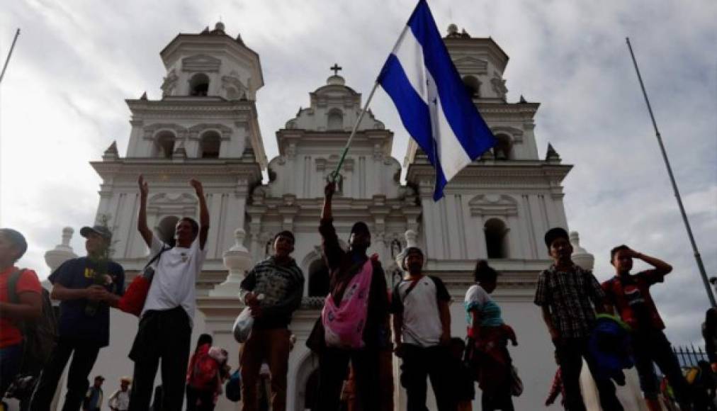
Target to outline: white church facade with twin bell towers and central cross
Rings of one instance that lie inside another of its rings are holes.
[[[460,34],[452,26],[445,44],[498,145],[455,176],[445,198],[434,202],[434,171],[424,153],[409,143],[402,166],[391,157],[394,134],[368,113],[341,170],[335,225],[343,240],[354,222],[369,225],[369,252],[379,254],[389,285],[401,275],[394,261],[398,253],[407,245],[422,247],[426,270],[442,278],[452,295],[454,336],[465,336],[462,299],[473,284],[475,261],[487,259],[502,274],[495,300],[518,334],[519,345],[511,347],[511,354],[525,389],[515,398],[516,409],[542,409],[556,364],[533,296],[538,273],[550,264],[543,233],[568,227],[561,184],[571,166],[562,164],[551,147],[545,157],[539,155],[534,134],[539,104],[522,97],[508,103],[503,78],[508,55],[493,39]],[[245,270],[270,252],[276,232],[292,230],[293,257],[306,281],[302,307],[290,324],[297,342],[290,354],[288,410],[303,411],[310,405],[307,393],[315,387],[318,367],[304,341],[328,291],[318,235],[323,186],[359,116],[361,94],[334,72],[326,85],[310,93],[308,107],[276,132],[279,155],[267,161],[256,105],[264,85],[262,67],[259,55],[241,37],[230,37],[218,23],[199,34],[179,34],[160,55],[166,67],[162,98],[127,100],[127,152],[120,156],[113,144],[101,161],[92,161],[103,180],[97,218],[113,231],[113,258],[125,268],[128,281],[148,260],[136,230],[139,174],[150,186],[148,224],[154,228],[196,217],[198,202],[187,181],[202,181],[211,229],[196,283],[193,344],[199,334],[212,334],[216,345],[229,350],[236,368],[239,344],[230,328],[242,309],[239,282]],[[262,179],[262,171],[268,179]],[[63,245],[48,252],[51,268],[72,255],[70,235],[66,231]],[[576,247],[576,261],[590,265],[590,258]],[[92,372],[107,378],[105,392],[114,390],[120,376],[132,374],[127,354],[137,325],[136,318],[118,311],[111,321],[110,346],[100,351]],[[395,398],[402,410],[399,362],[394,358]],[[589,389],[586,394],[594,404]],[[480,410],[480,391],[477,395],[474,409]],[[634,405],[626,409],[640,409],[634,386],[621,395]],[[223,398],[217,410],[237,407]]]

